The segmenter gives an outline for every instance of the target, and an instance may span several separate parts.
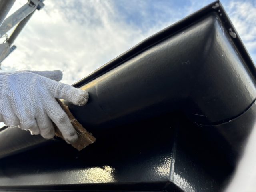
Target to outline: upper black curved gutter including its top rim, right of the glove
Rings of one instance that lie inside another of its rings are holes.
[[[199,24],[200,22],[202,23]],[[191,35],[191,38],[186,38],[182,35],[186,30],[197,31],[195,34],[188,32],[187,35]],[[176,41],[179,43],[174,46]],[[180,46],[182,43],[183,46]],[[156,50],[161,44],[165,47]],[[187,52],[184,53],[184,50]],[[234,59],[235,57],[237,58]],[[137,62],[134,58],[142,62]],[[192,64],[190,61],[187,63],[187,60],[182,60],[185,58],[192,60]],[[165,70],[169,74],[165,73]],[[176,70],[176,73],[173,70]],[[131,114],[132,112],[127,112],[128,108],[133,108],[130,109],[133,111],[136,108],[142,114],[142,110],[145,113],[146,110],[149,112],[148,108],[153,103],[165,103],[161,109],[151,108],[150,112],[154,116],[156,110],[168,110],[166,106],[172,103],[171,108],[186,111],[198,124],[217,125],[237,118],[252,106],[256,98],[255,71],[255,66],[238,33],[217,1],[147,38],[74,84],[88,90],[91,100],[82,110],[75,106],[70,108],[78,115],[78,119],[83,114],[89,116],[88,122],[82,119],[86,126],[95,126],[100,124],[99,122],[117,119],[120,114]],[[151,75],[152,73],[154,75]],[[140,78],[137,78],[138,76]],[[161,79],[161,82],[155,82],[154,78],[158,81]],[[176,85],[172,84],[173,82],[176,82]],[[160,89],[162,84],[166,86]],[[128,86],[130,92],[127,92],[124,86]],[[144,90],[143,93],[141,90],[146,86],[148,90]],[[173,92],[178,90],[179,93],[171,93],[170,89]],[[137,97],[137,94],[141,96]],[[116,99],[113,100],[111,97]],[[148,100],[144,106],[143,97]],[[127,106],[121,110],[120,104],[125,105],[128,101],[132,107]],[[94,119],[93,116],[97,116],[98,119]],[[132,118],[134,117],[135,115]],[[131,118],[126,120],[130,121]]]

